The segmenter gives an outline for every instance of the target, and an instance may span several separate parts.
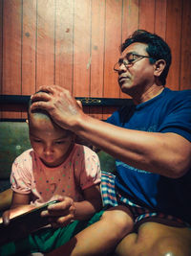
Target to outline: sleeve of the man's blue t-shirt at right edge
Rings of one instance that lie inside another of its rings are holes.
[[[159,127],[160,132],[175,132],[191,141],[191,96],[176,103]]]

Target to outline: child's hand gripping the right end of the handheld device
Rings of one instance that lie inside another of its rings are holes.
[[[54,228],[65,226],[74,221],[74,200],[69,197],[55,196],[52,199],[59,202],[48,206],[46,211],[41,213],[42,217],[49,217],[49,221]]]

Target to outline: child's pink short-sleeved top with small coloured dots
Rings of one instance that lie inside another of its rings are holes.
[[[40,205],[54,195],[83,200],[82,191],[100,183],[100,164],[96,152],[75,144],[68,158],[60,166],[43,164],[31,149],[24,151],[12,164],[11,189],[20,194],[32,194],[32,201]]]

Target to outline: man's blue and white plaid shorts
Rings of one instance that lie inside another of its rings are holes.
[[[190,227],[188,223],[181,221],[177,217],[159,212],[152,212],[150,209],[139,206],[130,199],[122,197],[116,192],[115,178],[116,175],[101,172],[101,194],[104,206],[117,206],[119,204],[126,205],[134,216],[135,224],[138,224],[139,221],[145,221],[146,218],[158,218],[177,223],[178,226]]]

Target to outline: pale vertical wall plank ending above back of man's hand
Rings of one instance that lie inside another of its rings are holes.
[[[74,1],[55,3],[55,83],[72,92]]]

